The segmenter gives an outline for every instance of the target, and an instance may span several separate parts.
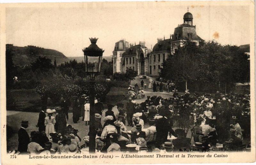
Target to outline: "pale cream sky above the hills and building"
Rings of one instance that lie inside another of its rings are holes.
[[[249,7],[241,5],[190,5],[176,2],[78,3],[49,7],[6,9],[6,43],[55,49],[65,56],[83,56],[90,37],[99,38],[103,56],[112,56],[115,43],[125,39],[145,41],[151,49],[157,38],[170,38],[183,23],[183,15],[193,14],[193,25],[202,39],[226,45],[250,43]]]

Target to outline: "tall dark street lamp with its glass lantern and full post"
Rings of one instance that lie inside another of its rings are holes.
[[[100,72],[100,64],[104,50],[100,49],[96,42],[98,38],[89,38],[91,45],[83,49],[85,72],[90,75],[90,121],[89,121],[89,152],[95,153],[95,119],[94,119],[94,98],[95,98],[95,75]]]

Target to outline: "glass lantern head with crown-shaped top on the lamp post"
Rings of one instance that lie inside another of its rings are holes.
[[[89,39],[91,45],[83,49],[85,72],[90,74],[91,78],[95,78],[95,74],[100,72],[100,64],[104,50],[96,45],[98,38]]]

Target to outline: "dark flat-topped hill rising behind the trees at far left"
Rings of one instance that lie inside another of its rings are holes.
[[[56,58],[57,65],[61,64],[65,61],[69,61],[69,59],[61,52],[53,49],[44,49],[36,46],[25,46],[18,47],[13,46],[12,44],[6,44],[7,48],[13,48],[14,56],[12,58],[13,63],[19,66],[30,65],[30,63],[36,61],[39,56],[45,56],[52,60],[52,64],[54,63],[54,58]]]

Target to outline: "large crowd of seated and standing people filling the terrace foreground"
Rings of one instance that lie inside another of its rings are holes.
[[[180,95],[174,90],[173,97],[147,96],[139,104],[136,102],[139,93],[135,93],[132,86],[129,86],[128,94],[126,105],[121,102],[108,104],[105,117],[102,117],[103,103],[100,98],[95,99],[95,130],[88,136],[96,135],[96,152],[172,152],[182,148],[209,151],[220,145],[239,147],[243,145],[244,137],[250,137],[250,95],[217,91],[212,96],[190,94],[189,90]],[[71,99],[74,123],[83,117],[85,125],[89,124],[89,99],[86,95]],[[30,154],[88,152],[89,137],[83,138],[85,145],[81,147],[78,130],[67,125],[69,104],[70,100],[62,97],[60,107],[41,111],[36,125],[38,131],[31,132],[31,139],[26,131],[28,121],[22,121],[18,151]],[[115,106],[117,113],[112,111]],[[179,120],[191,119],[193,122],[188,125],[191,137],[184,128],[173,130]],[[146,123],[148,128],[145,128]],[[131,126],[131,130],[127,126]]]

